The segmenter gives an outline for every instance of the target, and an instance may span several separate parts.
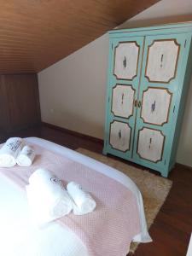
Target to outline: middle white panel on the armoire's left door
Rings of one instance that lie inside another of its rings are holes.
[[[133,114],[134,96],[135,90],[131,85],[116,84],[112,96],[113,115],[129,118]]]

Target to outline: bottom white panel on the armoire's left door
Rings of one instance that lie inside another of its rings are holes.
[[[131,127],[123,122],[113,121],[110,124],[110,138],[109,143],[112,148],[120,151],[127,151],[130,149],[131,142]]]

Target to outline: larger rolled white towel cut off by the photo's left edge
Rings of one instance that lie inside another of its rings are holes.
[[[13,167],[16,164],[17,155],[25,143],[20,137],[10,137],[0,149],[0,167]]]

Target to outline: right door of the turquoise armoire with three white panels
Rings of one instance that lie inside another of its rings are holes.
[[[145,166],[165,168],[169,164],[188,39],[186,34],[145,39],[133,153],[134,160]]]

